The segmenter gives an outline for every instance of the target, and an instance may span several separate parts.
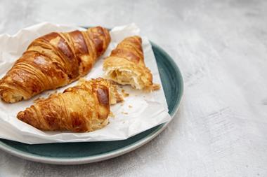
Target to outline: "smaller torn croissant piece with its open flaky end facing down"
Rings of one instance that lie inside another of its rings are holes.
[[[158,90],[152,83],[152,73],[145,66],[142,39],[131,36],[117,45],[103,64],[105,76],[122,85],[131,85],[139,90]]]

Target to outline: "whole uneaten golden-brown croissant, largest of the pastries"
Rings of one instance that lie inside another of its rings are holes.
[[[35,39],[0,80],[1,99],[13,103],[72,83],[91,70],[109,43],[110,34],[103,27]]]

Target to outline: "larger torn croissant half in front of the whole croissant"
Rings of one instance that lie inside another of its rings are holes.
[[[40,99],[17,118],[41,130],[91,132],[108,124],[110,105],[122,100],[116,85],[97,78]]]

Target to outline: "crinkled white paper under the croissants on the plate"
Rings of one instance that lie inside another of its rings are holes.
[[[67,27],[58,24],[41,23],[32,27],[27,27],[18,31],[14,36],[8,34],[0,35],[0,78],[6,71],[11,69],[13,63],[22,55],[35,38],[48,34],[52,31],[71,31],[74,29],[84,30],[78,27]],[[115,27],[110,31],[111,43],[108,50],[101,57],[86,79],[103,76],[103,58],[108,56],[117,43],[126,36],[138,35],[140,29],[136,24],[129,24],[122,27]],[[145,64],[150,68],[153,75],[153,82],[161,84],[159,71],[151,45],[147,38],[143,38],[143,51]],[[76,85],[74,82],[66,87],[58,89],[62,92],[67,87]],[[22,143],[56,143],[56,142],[82,142],[82,141],[115,141],[128,139],[129,137],[141,133],[151,127],[155,127],[164,122],[168,122],[171,117],[168,113],[167,102],[163,89],[151,93],[133,90],[129,86],[124,86],[129,97],[124,98],[123,103],[111,106],[111,111],[115,115],[110,117],[110,124],[103,129],[89,133],[72,132],[43,132],[16,118],[19,111],[33,104],[38,97],[48,97],[48,94],[55,92],[50,90],[43,92],[28,101],[20,101],[15,104],[6,104],[0,101],[0,138]]]

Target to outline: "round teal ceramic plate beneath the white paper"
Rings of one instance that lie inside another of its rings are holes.
[[[152,44],[157,60],[169,114],[173,118],[183,94],[183,79],[175,62],[162,48]],[[29,145],[0,139],[0,149],[12,155],[48,164],[86,164],[108,160],[143,146],[167,127],[167,123],[148,129],[122,141],[98,141],[87,143],[46,143]]]

